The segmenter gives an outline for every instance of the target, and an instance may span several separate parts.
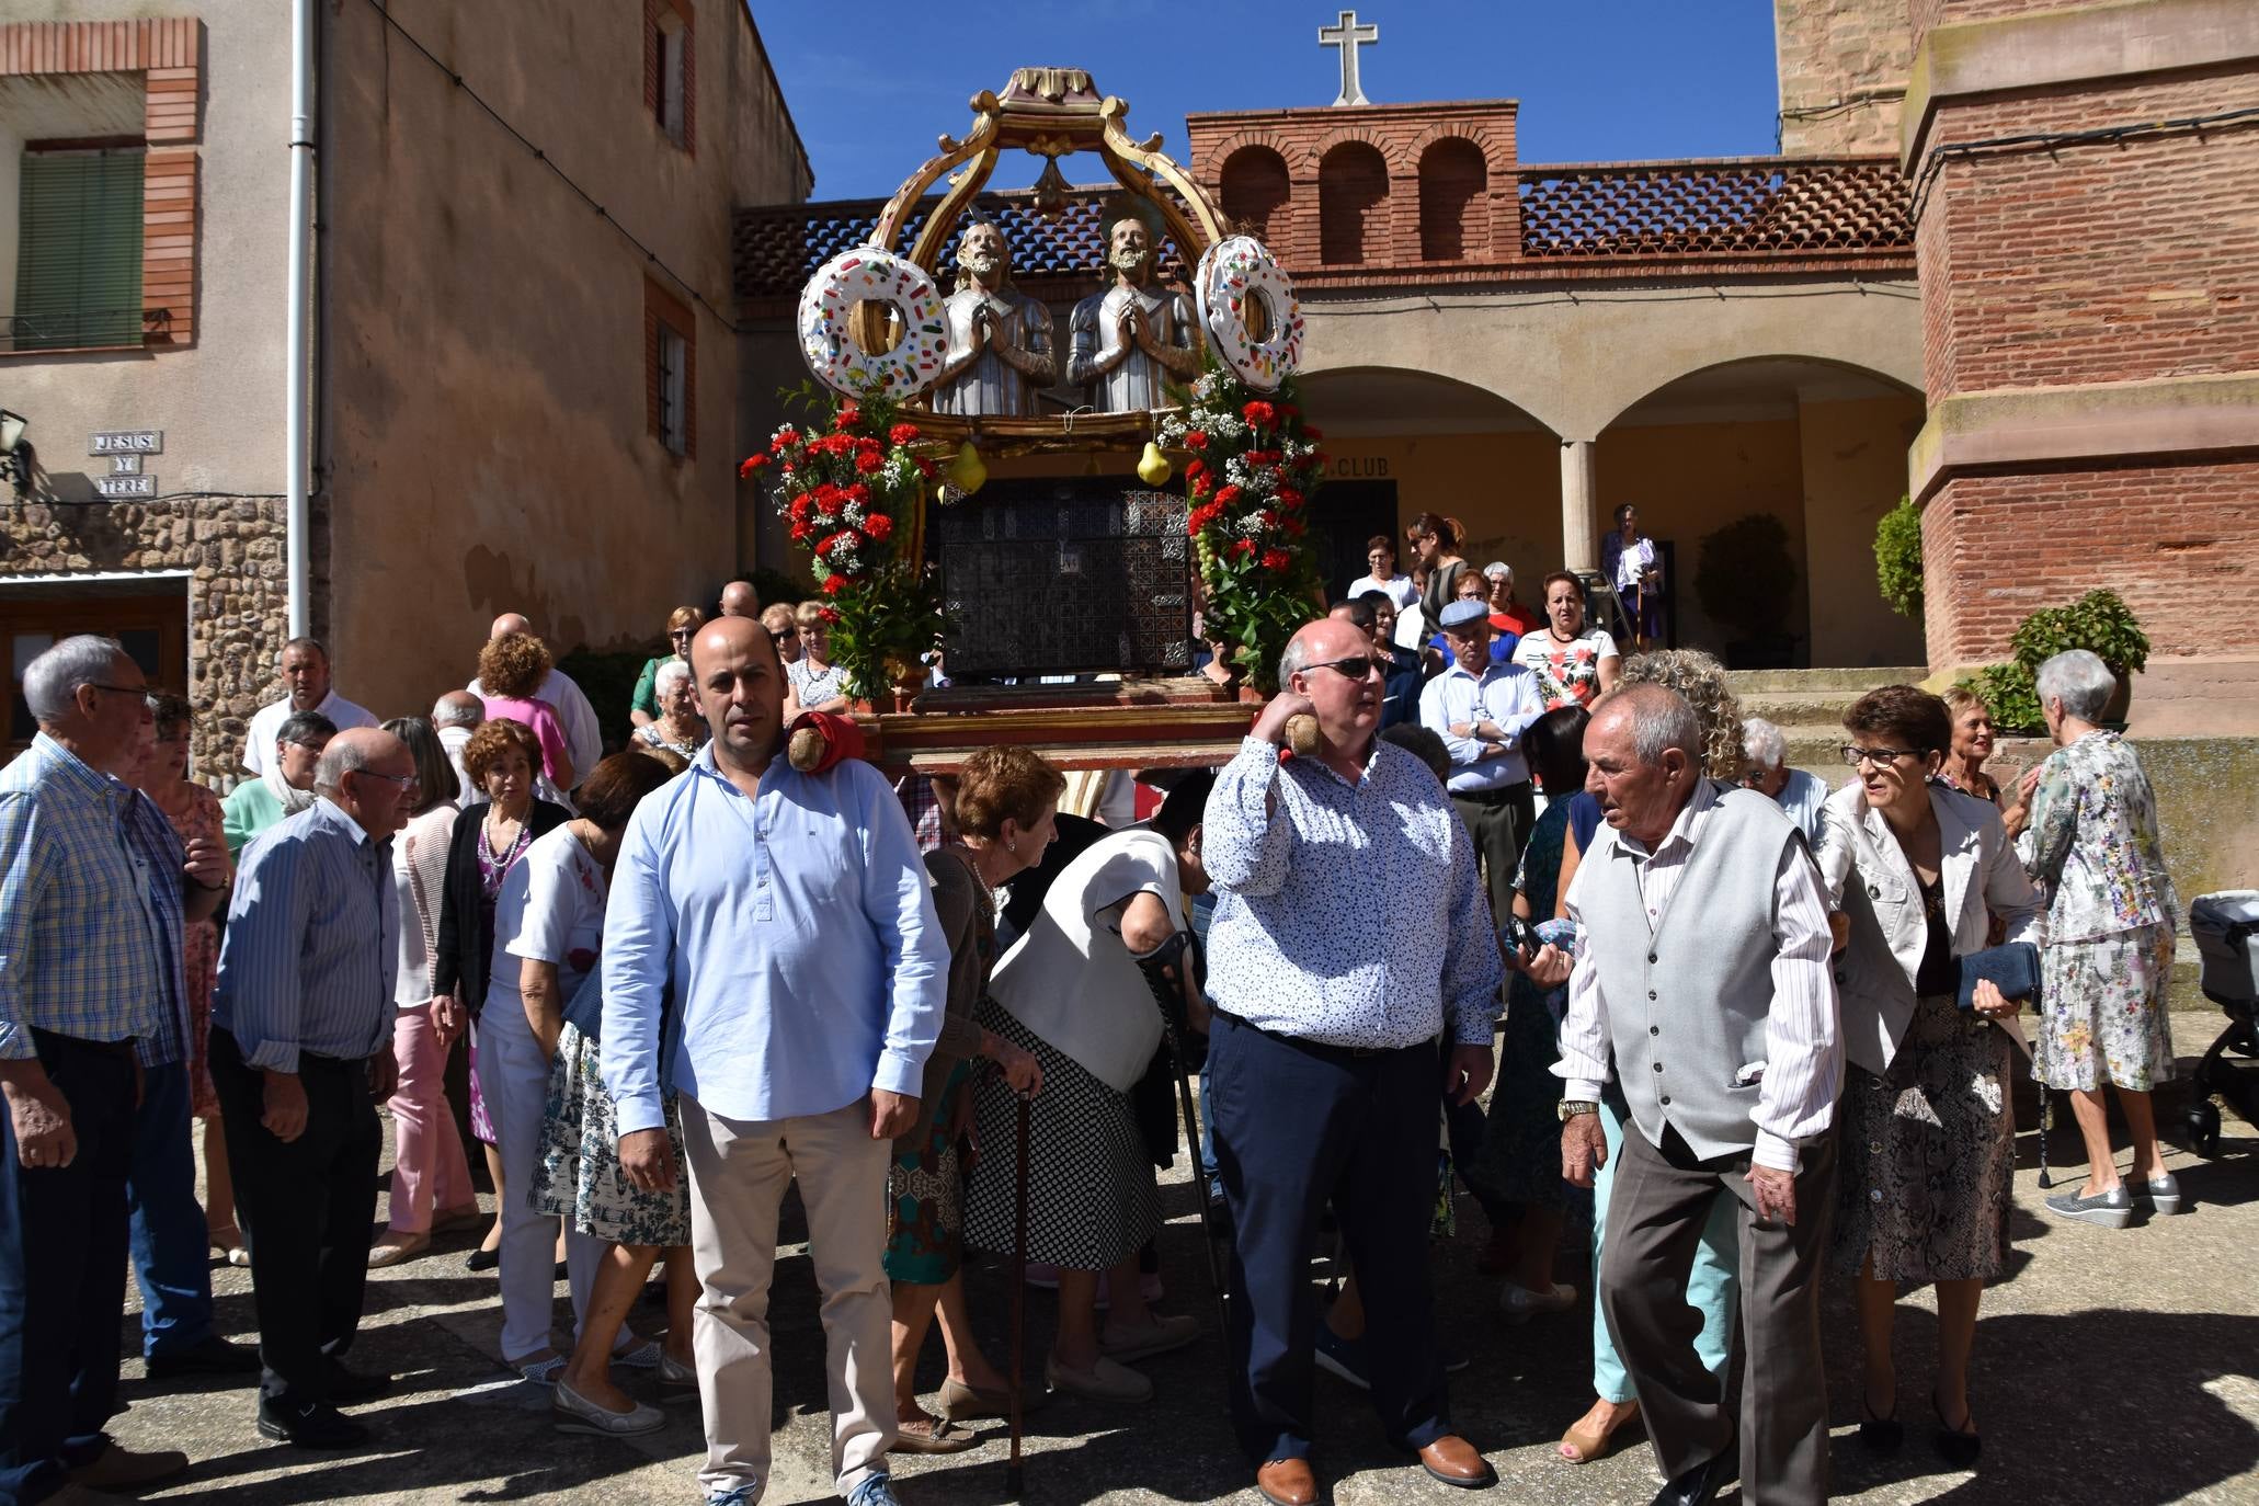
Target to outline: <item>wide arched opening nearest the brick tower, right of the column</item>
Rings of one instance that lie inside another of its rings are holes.
[[[1672,643],[1746,668],[1911,668],[1922,625],[1882,601],[1875,524],[1907,490],[1920,427],[1922,395],[1859,366],[1755,357],[1687,373],[1602,431],[1602,540],[1633,504],[1663,551]],[[1755,537],[1773,533],[1764,522],[1721,535],[1742,519],[1776,522],[1780,551]],[[1751,589],[1776,571],[1785,592]]]

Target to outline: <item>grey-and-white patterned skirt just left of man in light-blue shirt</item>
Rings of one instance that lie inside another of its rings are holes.
[[[596,1070],[596,1043],[572,1025],[549,1063],[549,1111],[542,1120],[542,1165],[526,1197],[535,1212],[572,1219],[585,1235],[612,1244],[689,1244],[691,1194],[682,1158],[682,1111],[666,1100],[666,1145],[675,1185],[644,1192],[619,1170],[619,1111]]]

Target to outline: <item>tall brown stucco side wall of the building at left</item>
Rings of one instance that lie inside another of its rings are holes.
[[[696,7],[696,154],[644,106],[639,7],[391,14],[605,217],[375,9],[332,14],[332,637],[339,684],[386,713],[468,680],[495,612],[565,653],[712,596],[739,553],[730,210],[806,190],[732,0]],[[696,314],[691,458],[646,431],[646,271]]]

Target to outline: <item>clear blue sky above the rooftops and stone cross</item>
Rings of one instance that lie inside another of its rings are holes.
[[[1014,68],[1089,68],[1130,102],[1136,135],[1184,158],[1188,111],[1333,104],[1340,63],[1317,45],[1340,2],[1055,0],[752,5],[784,97],[815,163],[818,199],[890,194],[962,133],[965,102]],[[1373,0],[1364,95],[1520,99],[1523,163],[1764,156],[1773,149],[1769,0]],[[1035,181],[1023,154],[994,187]],[[1096,160],[1064,163],[1075,183]]]

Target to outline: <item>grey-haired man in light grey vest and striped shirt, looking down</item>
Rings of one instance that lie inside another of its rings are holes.
[[[1597,1100],[1615,1077],[1633,1127],[1599,1303],[1667,1479],[1656,1504],[1701,1506],[1737,1472],[1753,1506],[1825,1501],[1818,1262],[1843,1045],[1818,874],[1780,806],[1703,779],[1701,723],[1676,693],[1602,698],[1584,752],[1608,824],[1568,892],[1584,948],[1554,1068],[1561,1158],[1593,1185]],[[1683,1296],[1719,1197],[1742,1235],[1739,1429]]]

